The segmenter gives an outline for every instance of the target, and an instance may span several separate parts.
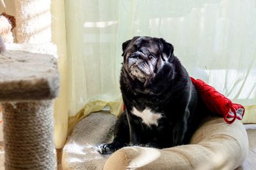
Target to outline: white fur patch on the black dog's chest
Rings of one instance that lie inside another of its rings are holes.
[[[146,124],[148,127],[150,127],[150,125],[157,126],[159,118],[162,117],[161,113],[154,113],[149,108],[146,108],[143,111],[138,111],[136,108],[132,108],[132,114],[140,117],[142,123]]]

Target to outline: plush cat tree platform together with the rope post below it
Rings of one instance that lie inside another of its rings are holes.
[[[54,169],[53,106],[59,74],[51,55],[0,54],[5,169]]]

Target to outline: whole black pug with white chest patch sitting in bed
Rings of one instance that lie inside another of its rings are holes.
[[[125,41],[122,49],[120,89],[126,110],[116,122],[113,142],[100,145],[99,152],[188,143],[204,107],[198,106],[200,97],[174,56],[173,45],[163,38],[141,36]]]

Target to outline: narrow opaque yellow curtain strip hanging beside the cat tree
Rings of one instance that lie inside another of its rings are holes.
[[[58,47],[58,69],[60,71],[60,95],[54,103],[54,141],[56,148],[62,148],[68,129],[68,59],[65,29],[65,3],[51,1],[52,41]]]

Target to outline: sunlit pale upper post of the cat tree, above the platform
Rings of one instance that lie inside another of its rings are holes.
[[[51,42],[51,0],[14,0],[17,43]]]

